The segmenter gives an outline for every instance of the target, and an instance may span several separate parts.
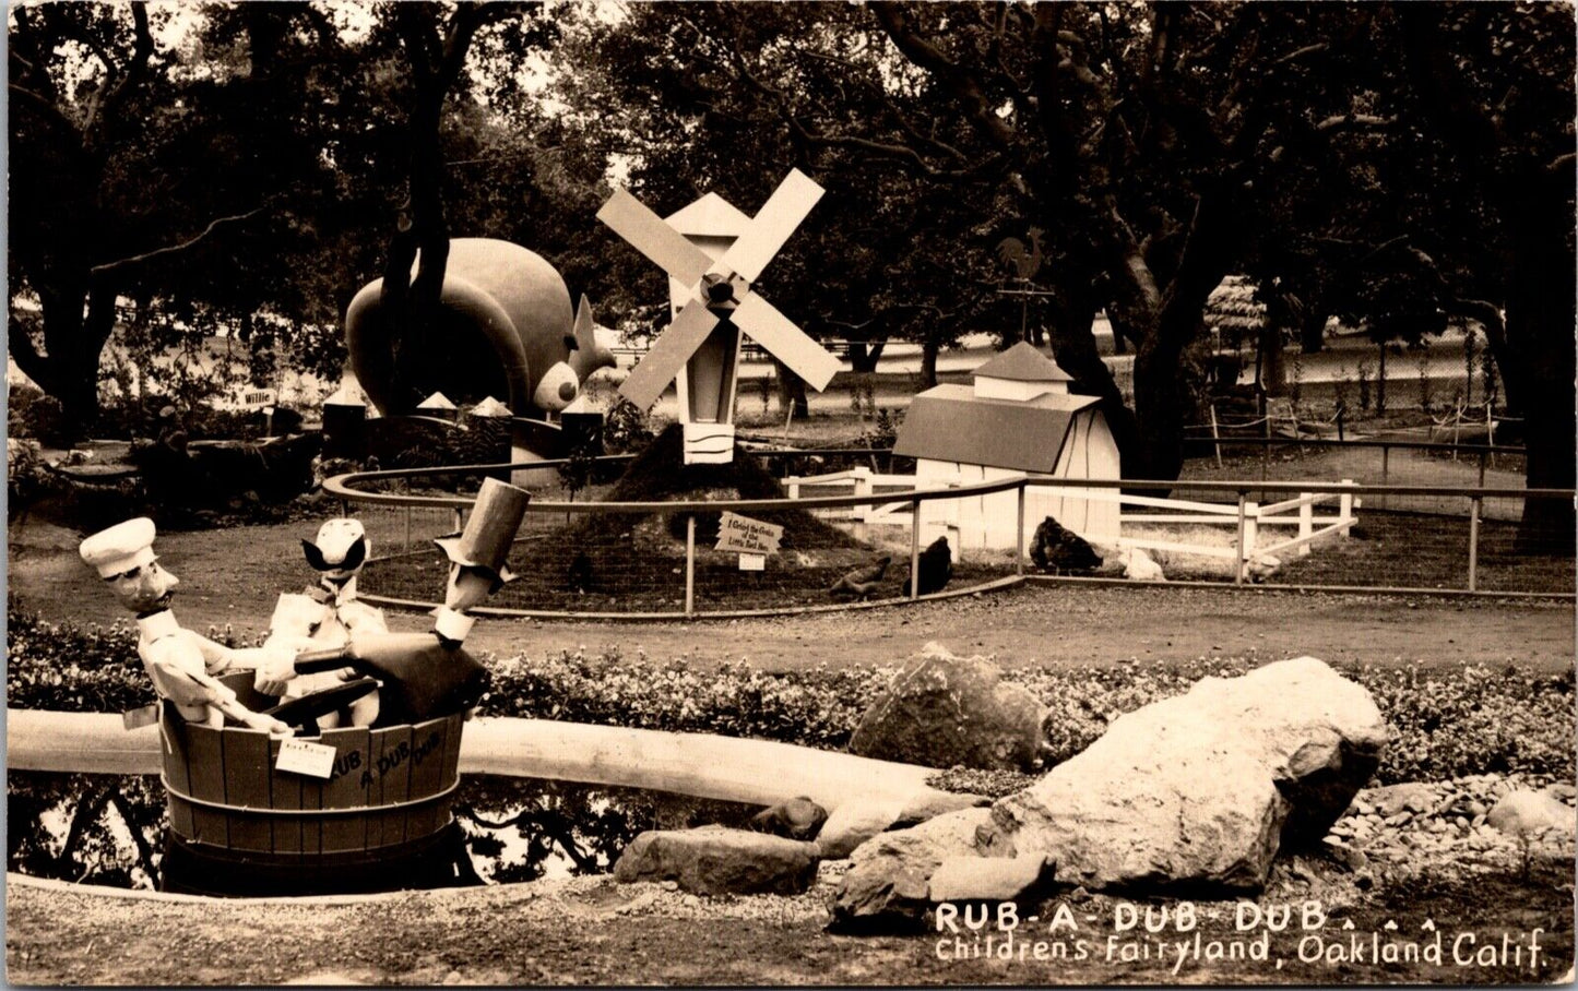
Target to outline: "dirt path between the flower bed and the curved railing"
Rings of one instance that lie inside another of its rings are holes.
[[[183,581],[177,614],[196,630],[230,623],[262,631],[275,596],[303,579],[301,524],[161,533],[161,560]],[[13,533],[8,587],[46,619],[123,619],[76,554],[80,535],[28,525]],[[420,614],[391,614],[394,630],[424,630]],[[472,645],[499,655],[559,650],[716,663],[748,658],[762,669],[896,663],[928,641],[956,653],[996,655],[1005,666],[1090,666],[1210,655],[1267,661],[1311,653],[1329,661],[1516,663],[1573,666],[1573,606],[1498,600],[1397,598],[1231,589],[1029,585],[925,608],[887,606],[797,617],[620,623],[488,619]]]

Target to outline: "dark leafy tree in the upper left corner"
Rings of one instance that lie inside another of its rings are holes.
[[[213,8],[161,50],[144,3],[9,13],[9,347],[77,431],[122,297],[172,317],[298,312],[338,38],[305,3]],[[19,303],[38,300],[33,312]]]

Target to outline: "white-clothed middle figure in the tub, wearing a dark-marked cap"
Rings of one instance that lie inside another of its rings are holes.
[[[308,565],[317,571],[317,582],[305,592],[286,592],[275,603],[275,615],[268,622],[265,647],[281,647],[294,656],[301,650],[342,647],[352,634],[388,633],[383,611],[357,598],[357,574],[372,554],[361,521],[339,516],[325,521],[314,540],[301,540],[301,552]],[[300,699],[314,691],[342,683],[346,671],[301,674],[286,682],[275,682],[257,674],[254,688],[264,694],[281,696],[282,701]],[[344,712],[317,715],[320,729],[333,729],[342,720],[352,726],[371,726],[379,715],[379,696],[363,694]]]

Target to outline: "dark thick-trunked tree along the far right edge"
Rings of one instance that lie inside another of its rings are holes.
[[[1529,488],[1573,488],[1575,103],[1569,5],[1398,6],[1397,30],[1422,118],[1475,186],[1458,210],[1483,208],[1499,256],[1505,323],[1493,303],[1460,309],[1482,322],[1524,417]],[[1524,502],[1521,549],[1570,549],[1570,499]]]

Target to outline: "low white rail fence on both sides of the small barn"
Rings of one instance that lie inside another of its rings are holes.
[[[909,500],[879,500],[882,496],[912,492],[915,489],[914,475],[882,475],[866,467],[855,467],[828,475],[795,475],[784,478],[783,484],[791,499],[800,499],[802,494],[873,497],[873,502],[865,505],[819,511],[827,519],[852,522],[855,537],[862,540],[865,540],[866,527],[869,525],[911,525],[912,503]],[[1341,484],[1354,484],[1354,481],[1343,478]],[[1237,503],[1225,503],[1130,496],[1117,489],[1090,489],[1070,486],[1067,481],[1038,481],[1034,478],[1027,480],[1027,488],[1098,502],[1117,502],[1120,507],[1163,510],[1160,513],[1122,513],[1119,521],[1125,532],[1130,527],[1141,525],[1234,527],[1236,540],[1231,546],[1138,535],[1120,535],[1117,540],[1120,548],[1217,557],[1228,560],[1229,567],[1231,562],[1237,562],[1234,581],[1245,581],[1278,554],[1297,552],[1299,555],[1305,555],[1310,552],[1311,544],[1322,538],[1333,535],[1348,537],[1349,529],[1357,522],[1356,510],[1362,507],[1362,500],[1352,492],[1300,492],[1292,499],[1261,505],[1242,497]],[[1335,514],[1316,514],[1318,507],[1335,507]],[[1258,546],[1262,538],[1261,530],[1273,527],[1292,527],[1294,535]],[[1026,521],[1026,535],[1032,533],[1034,529],[1035,522]],[[961,546],[958,540],[952,541],[952,544],[955,548]],[[1019,551],[1024,552],[1026,548],[1019,548]]]

